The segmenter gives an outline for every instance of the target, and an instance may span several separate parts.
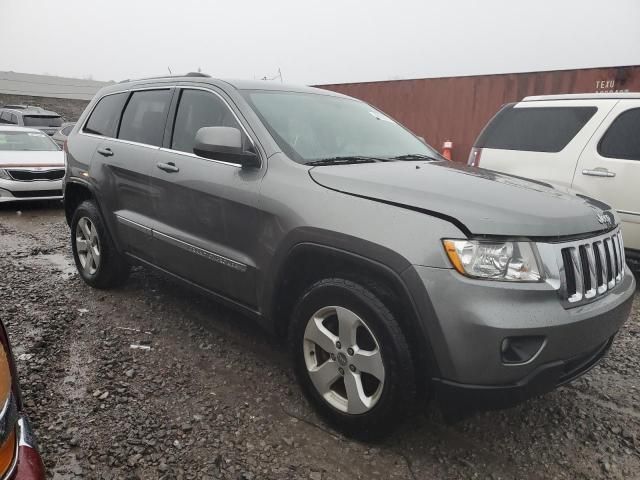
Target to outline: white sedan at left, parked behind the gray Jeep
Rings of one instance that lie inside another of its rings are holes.
[[[0,125],[0,202],[62,198],[64,152],[35,128]]]

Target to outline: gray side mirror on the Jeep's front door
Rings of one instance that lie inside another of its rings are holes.
[[[260,166],[258,155],[243,149],[242,133],[234,127],[202,127],[196,133],[193,153],[243,167]]]

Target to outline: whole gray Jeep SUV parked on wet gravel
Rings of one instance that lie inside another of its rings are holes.
[[[429,398],[455,418],[567,383],[635,280],[608,205],[442,161],[361,101],[201,74],[101,90],[67,141],[75,262],[132,263],[255,318],[346,433]]]

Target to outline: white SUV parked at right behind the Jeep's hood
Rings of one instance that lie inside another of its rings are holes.
[[[548,95],[505,105],[478,136],[468,163],[612,205],[627,261],[640,269],[640,93]]]

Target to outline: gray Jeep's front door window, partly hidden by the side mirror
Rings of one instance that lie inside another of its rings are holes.
[[[202,127],[235,127],[242,132],[229,107],[217,95],[204,90],[182,90],[171,148],[193,153],[196,133]],[[244,132],[242,136],[246,145]]]

